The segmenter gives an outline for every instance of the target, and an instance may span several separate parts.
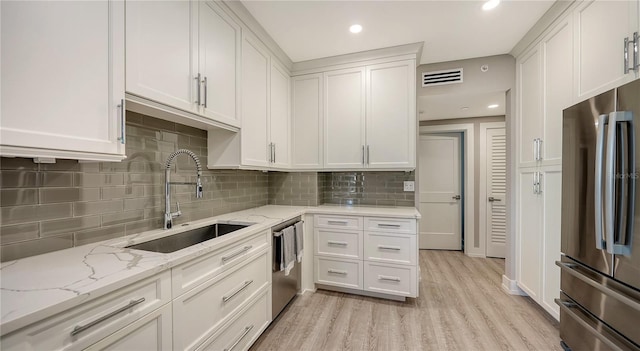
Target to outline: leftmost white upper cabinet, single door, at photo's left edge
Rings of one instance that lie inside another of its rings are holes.
[[[0,155],[125,158],[124,3],[0,6]]]

